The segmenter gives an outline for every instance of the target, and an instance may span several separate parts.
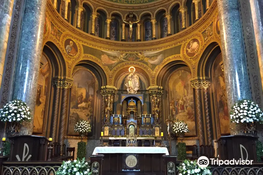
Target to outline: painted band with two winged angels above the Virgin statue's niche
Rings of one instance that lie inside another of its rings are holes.
[[[118,64],[127,61],[141,62],[147,65],[151,70],[154,70],[165,58],[172,55],[179,55],[181,50],[181,45],[179,45],[166,50],[125,53],[110,50],[98,50],[85,45],[82,46],[84,54],[94,55],[99,58],[101,60],[101,64],[103,66],[107,66],[110,71],[113,70],[113,68]]]

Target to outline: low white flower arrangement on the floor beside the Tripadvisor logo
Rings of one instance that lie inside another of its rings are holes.
[[[201,175],[211,175],[210,167],[201,168],[198,166],[196,160],[184,160],[181,162],[179,167],[179,175],[191,175],[191,174],[201,174]]]

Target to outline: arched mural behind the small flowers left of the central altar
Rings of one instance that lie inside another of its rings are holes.
[[[86,120],[92,126],[94,115],[95,77],[87,70],[78,70],[74,79],[70,95],[70,115],[68,135],[78,135],[74,126],[80,120]],[[92,134],[92,133],[91,133]]]

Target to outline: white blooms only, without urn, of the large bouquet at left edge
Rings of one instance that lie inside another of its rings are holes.
[[[0,109],[0,120],[2,122],[31,121],[31,110],[27,104],[21,100],[13,100]]]

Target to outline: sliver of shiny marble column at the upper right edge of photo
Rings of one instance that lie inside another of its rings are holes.
[[[262,18],[260,15],[260,11],[262,11],[263,9],[260,8],[258,0],[249,0],[249,2],[250,2],[251,14],[252,14],[255,43],[257,47],[260,77],[261,77],[261,82],[263,84],[263,29],[262,29]]]

